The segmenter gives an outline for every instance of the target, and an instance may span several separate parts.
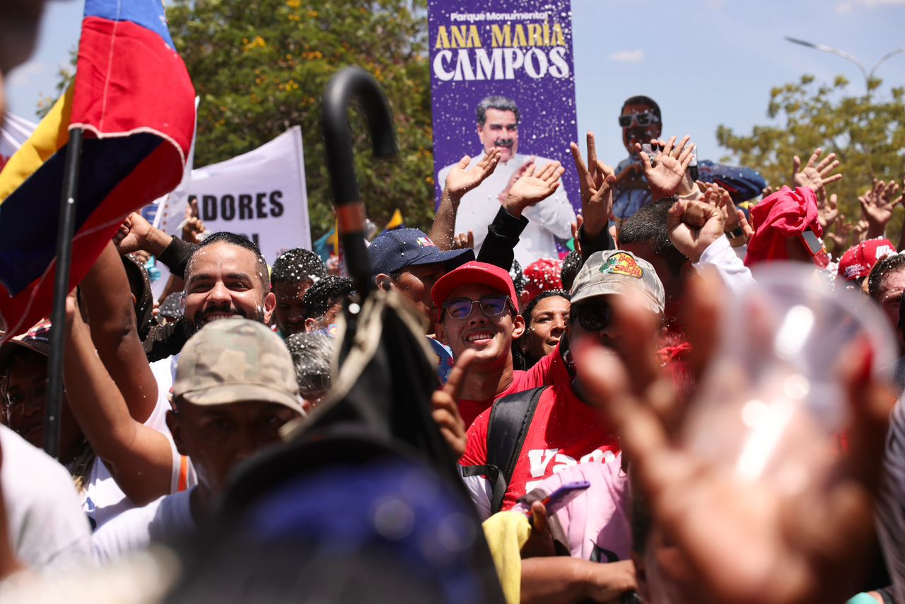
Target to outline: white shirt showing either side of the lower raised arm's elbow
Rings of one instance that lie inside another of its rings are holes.
[[[167,400],[168,391],[168,388],[167,390],[157,388],[157,406],[145,421],[145,426],[154,428],[157,432],[167,436],[173,454],[173,472],[169,492],[176,493],[180,488],[185,490],[195,486],[197,480],[191,462],[176,451],[176,445],[173,443],[173,437],[170,436],[169,427],[167,427],[167,410],[170,408]],[[82,509],[88,514],[94,530],[119,513],[135,507],[135,504],[119,488],[119,484],[116,484],[107,465],[100,460],[96,460],[91,467],[88,488],[81,496]]]

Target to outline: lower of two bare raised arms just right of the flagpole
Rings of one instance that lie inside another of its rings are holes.
[[[129,415],[76,306],[71,294],[66,300],[63,376],[72,415],[119,488],[133,503],[144,505],[170,492],[172,448],[167,436]]]

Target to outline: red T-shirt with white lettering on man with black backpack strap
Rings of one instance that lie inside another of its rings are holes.
[[[490,417],[487,410],[474,420],[460,464],[487,463]],[[538,400],[502,509],[509,510],[535,484],[560,470],[588,462],[612,462],[619,450],[619,437],[613,427],[604,420],[600,409],[575,396],[571,380],[548,388]]]

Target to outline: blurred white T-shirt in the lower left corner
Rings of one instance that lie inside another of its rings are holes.
[[[5,426],[0,445],[0,484],[16,557],[33,570],[90,561],[90,527],[66,468]]]

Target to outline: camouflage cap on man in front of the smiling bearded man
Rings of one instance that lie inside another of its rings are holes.
[[[186,342],[173,396],[193,405],[278,403],[302,413],[289,350],[265,325],[248,319],[214,321]]]

